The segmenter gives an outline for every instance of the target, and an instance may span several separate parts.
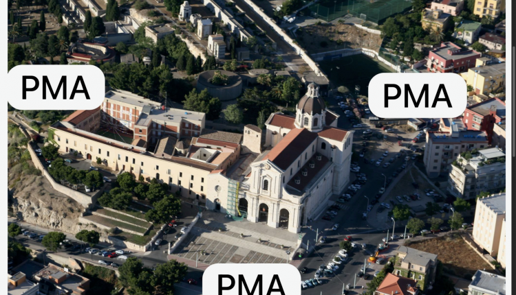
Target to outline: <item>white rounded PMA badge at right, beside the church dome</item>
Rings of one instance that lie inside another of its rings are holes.
[[[466,81],[456,73],[380,73],[368,89],[380,118],[455,118],[467,106]]]

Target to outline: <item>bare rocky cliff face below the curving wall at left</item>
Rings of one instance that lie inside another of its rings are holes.
[[[52,189],[44,176],[11,171],[9,186],[12,191],[10,205],[19,220],[73,234],[83,229],[96,229],[79,224],[78,217],[84,211],[83,206]]]

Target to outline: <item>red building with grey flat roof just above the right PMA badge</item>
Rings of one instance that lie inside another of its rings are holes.
[[[475,60],[482,54],[474,50],[464,50],[451,42],[429,52],[427,69],[433,73],[460,73],[475,66]]]

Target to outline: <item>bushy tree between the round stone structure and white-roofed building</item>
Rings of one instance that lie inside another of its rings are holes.
[[[206,119],[215,120],[219,118],[222,110],[222,102],[217,97],[212,97],[207,89],[197,93],[193,89],[184,97],[184,109],[193,110],[195,112],[206,113]]]

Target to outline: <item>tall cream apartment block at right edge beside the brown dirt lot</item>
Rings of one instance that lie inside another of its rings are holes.
[[[497,193],[477,200],[475,221],[473,226],[473,241],[495,257],[498,254],[502,227],[506,218],[505,193]]]

